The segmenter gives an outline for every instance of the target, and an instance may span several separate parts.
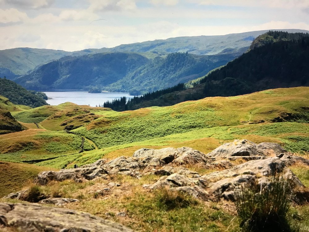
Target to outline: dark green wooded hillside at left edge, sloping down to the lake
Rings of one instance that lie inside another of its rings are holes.
[[[30,107],[47,105],[44,100],[44,98],[47,99],[47,96],[44,93],[28,91],[6,78],[0,78],[0,95],[7,97],[8,100],[16,105],[27,105]]]

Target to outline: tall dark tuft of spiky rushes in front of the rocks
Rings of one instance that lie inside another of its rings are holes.
[[[242,188],[236,194],[236,208],[243,231],[294,231],[287,213],[291,191],[282,176],[274,175],[264,189]]]

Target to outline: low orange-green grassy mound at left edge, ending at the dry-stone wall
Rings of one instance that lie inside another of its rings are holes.
[[[3,161],[31,161],[59,157],[80,151],[81,138],[64,131],[32,129],[0,135],[0,159]],[[93,145],[84,142],[84,149]]]

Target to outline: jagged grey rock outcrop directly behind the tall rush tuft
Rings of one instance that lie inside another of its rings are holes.
[[[252,160],[234,168],[213,172],[197,178],[189,178],[181,174],[162,176],[156,183],[144,185],[151,190],[162,187],[172,191],[184,191],[194,197],[212,200],[235,200],[237,191],[243,187],[262,188],[269,186],[274,175],[281,175],[292,191],[303,189],[301,181],[287,168],[291,159],[270,157]]]

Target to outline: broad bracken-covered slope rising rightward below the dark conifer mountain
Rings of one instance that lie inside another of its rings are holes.
[[[202,128],[270,122],[284,112],[296,113],[300,107],[306,107],[308,97],[306,87],[210,97],[168,107],[125,111],[94,120],[75,132],[104,148]]]

